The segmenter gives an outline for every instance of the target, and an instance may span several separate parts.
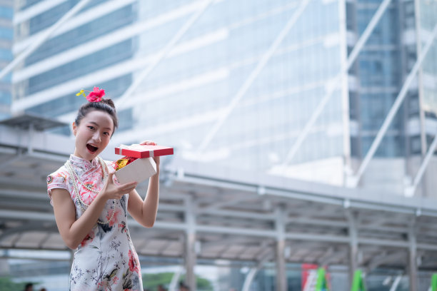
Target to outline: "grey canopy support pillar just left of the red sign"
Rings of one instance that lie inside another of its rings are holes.
[[[286,215],[282,208],[276,210],[276,290],[287,291],[287,275],[285,260],[285,221]]]

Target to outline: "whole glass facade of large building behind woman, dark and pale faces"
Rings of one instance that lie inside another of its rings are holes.
[[[16,24],[17,47],[77,2],[62,1]],[[83,102],[74,96],[82,87],[104,87],[116,99],[201,8],[200,2],[187,0],[129,2],[80,26],[66,24],[74,27],[34,51],[14,76],[15,100],[26,99],[26,111],[62,117]],[[21,1],[19,9],[29,11],[32,5],[36,4]],[[92,1],[74,19],[109,5]],[[149,138],[174,146],[185,157],[196,153],[300,5],[301,1],[214,1],[121,106],[124,131],[119,131],[119,138],[114,136],[114,142]],[[341,1],[309,2],[248,83],[201,160],[248,170],[270,170],[281,163],[346,57],[341,5]],[[70,56],[74,53],[77,57]],[[66,58],[56,58],[61,54]],[[71,90],[41,97],[66,83],[74,84]],[[291,163],[343,156],[346,136],[341,128],[347,120],[342,112],[347,104],[341,92],[343,88],[333,94]],[[27,100],[36,101],[29,106]]]

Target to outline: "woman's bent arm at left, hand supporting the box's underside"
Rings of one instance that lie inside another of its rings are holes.
[[[107,200],[120,199],[122,195],[135,189],[136,183],[114,185],[113,175],[113,173],[109,174],[108,182],[104,189],[77,220],[76,208],[74,207],[73,200],[71,200],[70,193],[65,189],[51,190],[56,225],[62,240],[72,250],[75,250],[94,228]]]

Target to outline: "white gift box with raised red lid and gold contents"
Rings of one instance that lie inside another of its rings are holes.
[[[156,163],[153,157],[173,155],[173,148],[138,144],[132,146],[121,145],[115,148],[115,153],[125,155],[114,165],[114,168],[116,168],[114,175],[119,183],[141,183],[156,174]]]

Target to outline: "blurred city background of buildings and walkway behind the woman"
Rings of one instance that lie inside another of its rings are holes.
[[[1,0],[0,290],[68,290],[45,179],[94,86],[104,158],[175,149],[156,226],[131,224],[144,287],[428,290],[436,34],[436,0]]]

